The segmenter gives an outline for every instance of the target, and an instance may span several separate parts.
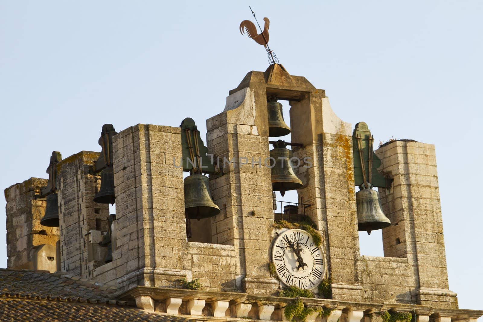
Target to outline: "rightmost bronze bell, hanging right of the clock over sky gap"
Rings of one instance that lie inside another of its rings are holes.
[[[391,225],[391,221],[382,210],[379,192],[372,190],[370,183],[369,188],[366,188],[364,183],[359,188],[360,190],[355,193],[359,231],[365,230],[370,235],[372,230],[383,229]]]

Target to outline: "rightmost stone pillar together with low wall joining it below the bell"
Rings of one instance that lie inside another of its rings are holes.
[[[366,296],[373,301],[457,308],[448,290],[434,146],[395,141],[378,150],[393,184],[379,189],[392,225],[383,229],[384,256],[362,256]],[[398,258],[394,258],[398,257]]]

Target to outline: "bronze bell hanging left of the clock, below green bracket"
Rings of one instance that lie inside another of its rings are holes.
[[[208,218],[220,213],[213,202],[208,182],[208,177],[202,174],[192,174],[185,178],[186,218]]]

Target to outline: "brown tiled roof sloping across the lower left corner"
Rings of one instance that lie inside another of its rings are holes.
[[[119,301],[115,288],[69,275],[0,268],[0,322],[193,321]]]

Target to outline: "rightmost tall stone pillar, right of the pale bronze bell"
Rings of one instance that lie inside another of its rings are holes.
[[[380,170],[394,180],[389,189],[379,189],[392,223],[383,229],[384,256],[412,263],[418,304],[457,308],[456,294],[448,290],[434,145],[395,141],[376,154]]]

